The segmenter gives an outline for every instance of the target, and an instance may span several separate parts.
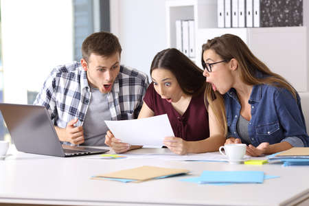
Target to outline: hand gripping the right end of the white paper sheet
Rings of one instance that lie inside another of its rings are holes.
[[[187,141],[179,137],[165,137],[163,144],[167,146],[172,152],[178,155],[187,154],[188,144]]]

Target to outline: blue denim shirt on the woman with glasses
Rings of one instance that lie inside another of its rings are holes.
[[[240,116],[240,102],[235,89],[224,95],[227,113],[228,137],[240,138],[236,124]],[[297,100],[287,89],[269,84],[254,85],[249,98],[251,119],[248,124],[249,138],[255,147],[262,142],[276,144],[286,137],[298,137],[308,146],[309,137],[301,110],[300,98]]]

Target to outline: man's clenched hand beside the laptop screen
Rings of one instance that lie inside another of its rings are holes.
[[[84,142],[84,130],[82,126],[74,126],[76,122],[78,122],[78,119],[73,119],[67,124],[65,128],[65,141],[78,145]]]

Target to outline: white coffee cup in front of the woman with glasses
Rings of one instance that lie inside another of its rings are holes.
[[[246,148],[246,144],[226,144],[220,146],[219,152],[229,159],[229,163],[240,163],[244,159]],[[225,149],[225,152],[222,152],[222,149]]]

